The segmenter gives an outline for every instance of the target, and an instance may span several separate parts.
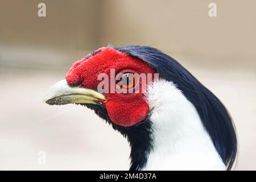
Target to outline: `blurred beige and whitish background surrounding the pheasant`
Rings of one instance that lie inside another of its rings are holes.
[[[40,2],[46,17],[38,16]],[[0,0],[0,169],[129,168],[128,143],[92,111],[42,102],[74,61],[111,43],[156,47],[183,64],[229,109],[240,143],[236,169],[255,170],[255,7],[253,0]]]

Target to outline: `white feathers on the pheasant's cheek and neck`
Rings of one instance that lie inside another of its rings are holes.
[[[176,86],[160,79],[148,86],[153,149],[142,170],[225,170],[195,107]]]

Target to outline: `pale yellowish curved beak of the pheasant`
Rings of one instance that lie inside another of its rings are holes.
[[[66,80],[52,85],[44,97],[44,102],[49,105],[100,104],[104,101],[103,94],[92,89],[70,86]]]

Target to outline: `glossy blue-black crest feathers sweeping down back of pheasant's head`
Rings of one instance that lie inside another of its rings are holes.
[[[237,137],[228,111],[210,90],[205,88],[172,57],[148,46],[113,47],[127,55],[139,57],[154,68],[159,76],[177,85],[196,107],[201,121],[228,170],[237,155]]]

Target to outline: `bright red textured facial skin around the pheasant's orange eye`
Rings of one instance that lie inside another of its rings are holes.
[[[156,73],[143,60],[126,55],[114,48],[102,47],[96,52],[96,55],[86,56],[73,64],[65,77],[69,85],[80,85],[82,88],[97,90],[98,84],[102,81],[97,80],[98,75],[106,73],[110,78],[110,69],[115,70],[115,75],[125,72],[152,73],[154,78]],[[138,84],[142,86],[141,80]],[[133,126],[147,117],[149,109],[142,92],[104,93],[104,96],[106,98],[104,105],[109,117],[117,125]]]

